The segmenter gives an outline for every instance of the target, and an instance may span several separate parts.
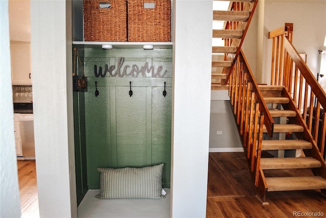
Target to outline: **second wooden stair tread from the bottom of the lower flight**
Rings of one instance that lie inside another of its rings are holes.
[[[284,158],[261,158],[260,168],[272,169],[302,169],[319,168],[321,163],[312,157],[284,157]]]

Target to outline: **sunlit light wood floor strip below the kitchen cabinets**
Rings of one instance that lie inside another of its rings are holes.
[[[40,217],[35,160],[17,160],[21,217]]]

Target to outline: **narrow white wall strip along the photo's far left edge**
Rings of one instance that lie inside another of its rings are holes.
[[[14,136],[8,1],[0,1],[0,217],[20,217]]]

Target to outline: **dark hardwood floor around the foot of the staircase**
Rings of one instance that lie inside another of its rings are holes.
[[[208,165],[206,217],[326,217],[326,198],[318,190],[270,192],[269,205],[262,205],[255,197],[243,152],[209,153]],[[310,170],[300,173],[311,174]]]

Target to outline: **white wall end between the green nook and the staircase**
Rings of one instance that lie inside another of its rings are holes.
[[[206,214],[212,4],[174,1],[172,217]]]

